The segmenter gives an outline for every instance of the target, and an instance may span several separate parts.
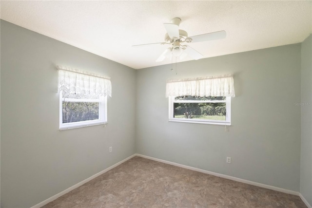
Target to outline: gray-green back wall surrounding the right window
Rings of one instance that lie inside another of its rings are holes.
[[[138,70],[137,153],[299,191],[300,50],[299,43],[177,63],[177,75],[171,65]],[[224,74],[234,74],[236,94],[228,132],[168,122],[167,79]]]

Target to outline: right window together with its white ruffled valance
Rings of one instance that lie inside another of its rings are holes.
[[[231,125],[233,75],[168,80],[169,121]]]

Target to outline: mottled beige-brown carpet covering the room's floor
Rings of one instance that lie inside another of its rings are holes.
[[[134,157],[43,208],[306,208],[291,194]]]

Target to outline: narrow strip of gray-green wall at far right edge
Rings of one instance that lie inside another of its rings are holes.
[[[301,43],[300,193],[312,205],[312,35]]]

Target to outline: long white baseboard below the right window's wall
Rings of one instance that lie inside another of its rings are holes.
[[[276,190],[276,191],[280,191],[280,192],[283,192],[283,193],[289,193],[289,194],[292,194],[292,195],[299,196],[299,192],[297,192],[297,191],[288,190],[288,189],[282,189],[282,188],[278,188],[278,187],[273,187],[273,186],[266,185],[266,184],[260,184],[260,183],[254,182],[254,181],[248,181],[248,180],[245,180],[245,179],[236,178],[236,177],[229,176],[229,175],[224,175],[224,174],[220,174],[220,173],[216,173],[216,172],[212,172],[212,171],[208,171],[208,170],[202,170],[202,169],[194,168],[194,167],[191,167],[191,166],[181,165],[181,164],[178,164],[178,163],[174,163],[174,162],[170,162],[170,161],[166,161],[166,160],[162,160],[162,159],[158,159],[158,158],[155,158],[155,157],[150,157],[150,156],[146,156],[146,155],[142,155],[142,154],[136,154],[136,155],[139,156],[139,157],[144,157],[146,159],[155,160],[155,161],[158,161],[158,162],[161,162],[161,163],[166,163],[166,164],[177,166],[177,167],[180,167],[180,168],[185,168],[185,169],[189,169],[189,170],[195,170],[197,172],[207,173],[207,174],[210,174],[210,175],[215,175],[215,176],[218,176],[218,177],[221,177],[221,178],[230,179],[230,180],[233,180],[233,181],[238,181],[238,182],[242,182],[242,183],[245,183],[245,184],[254,185],[254,186],[257,186],[257,187],[262,187],[262,188],[265,188],[265,189]]]

